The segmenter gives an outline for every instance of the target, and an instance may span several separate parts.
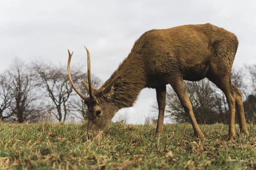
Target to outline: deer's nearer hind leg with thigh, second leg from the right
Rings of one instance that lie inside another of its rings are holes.
[[[226,96],[228,108],[230,111],[230,121],[229,121],[229,140],[234,139],[235,137],[235,114],[236,114],[236,95],[231,88],[231,79],[230,74],[225,76],[211,76],[207,77],[210,81],[212,81]]]

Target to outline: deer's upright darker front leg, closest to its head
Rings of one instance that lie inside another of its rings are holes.
[[[157,119],[157,129],[156,135],[163,133],[163,118],[164,110],[166,107],[166,85],[160,85],[156,88],[157,92],[157,105],[158,105],[158,119]]]

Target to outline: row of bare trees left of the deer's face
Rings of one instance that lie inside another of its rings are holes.
[[[67,65],[52,65],[44,62],[25,63],[15,59],[9,68],[0,74],[0,120],[5,122],[40,122],[47,114],[52,121],[87,119],[87,106],[73,91]],[[72,78],[77,87],[88,96],[81,84],[87,82],[87,74],[81,66],[73,65]],[[93,87],[102,81],[92,75]]]

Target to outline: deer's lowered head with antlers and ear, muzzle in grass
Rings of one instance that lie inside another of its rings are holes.
[[[87,76],[88,76],[88,84],[82,81],[82,84],[86,88],[89,93],[89,97],[84,96],[74,85],[73,80],[70,74],[70,61],[73,55],[73,52],[69,53],[69,59],[67,63],[67,72],[68,78],[70,80],[70,84],[72,88],[76,91],[76,93],[84,100],[84,103],[88,108],[88,139],[92,136],[95,136],[99,133],[99,131],[104,130],[107,127],[115,113],[120,109],[115,102],[112,101],[112,95],[115,94],[118,89],[121,77],[114,79],[112,82],[108,83],[108,85],[102,86],[99,89],[92,87],[91,77],[90,77],[90,53],[88,49],[84,46],[87,51]]]

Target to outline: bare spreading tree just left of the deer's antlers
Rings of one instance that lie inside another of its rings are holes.
[[[74,93],[67,77],[66,68],[62,65],[57,67],[55,65],[46,65],[45,63],[34,63],[33,69],[38,75],[37,85],[47,91],[45,96],[49,97],[50,101],[52,101],[50,102],[49,109],[55,118],[59,122],[65,122],[68,114],[77,116],[76,109],[73,108],[74,105],[69,101]],[[80,82],[80,84],[82,79],[86,77],[86,74],[79,71],[79,68],[73,71],[73,75],[74,82]]]

